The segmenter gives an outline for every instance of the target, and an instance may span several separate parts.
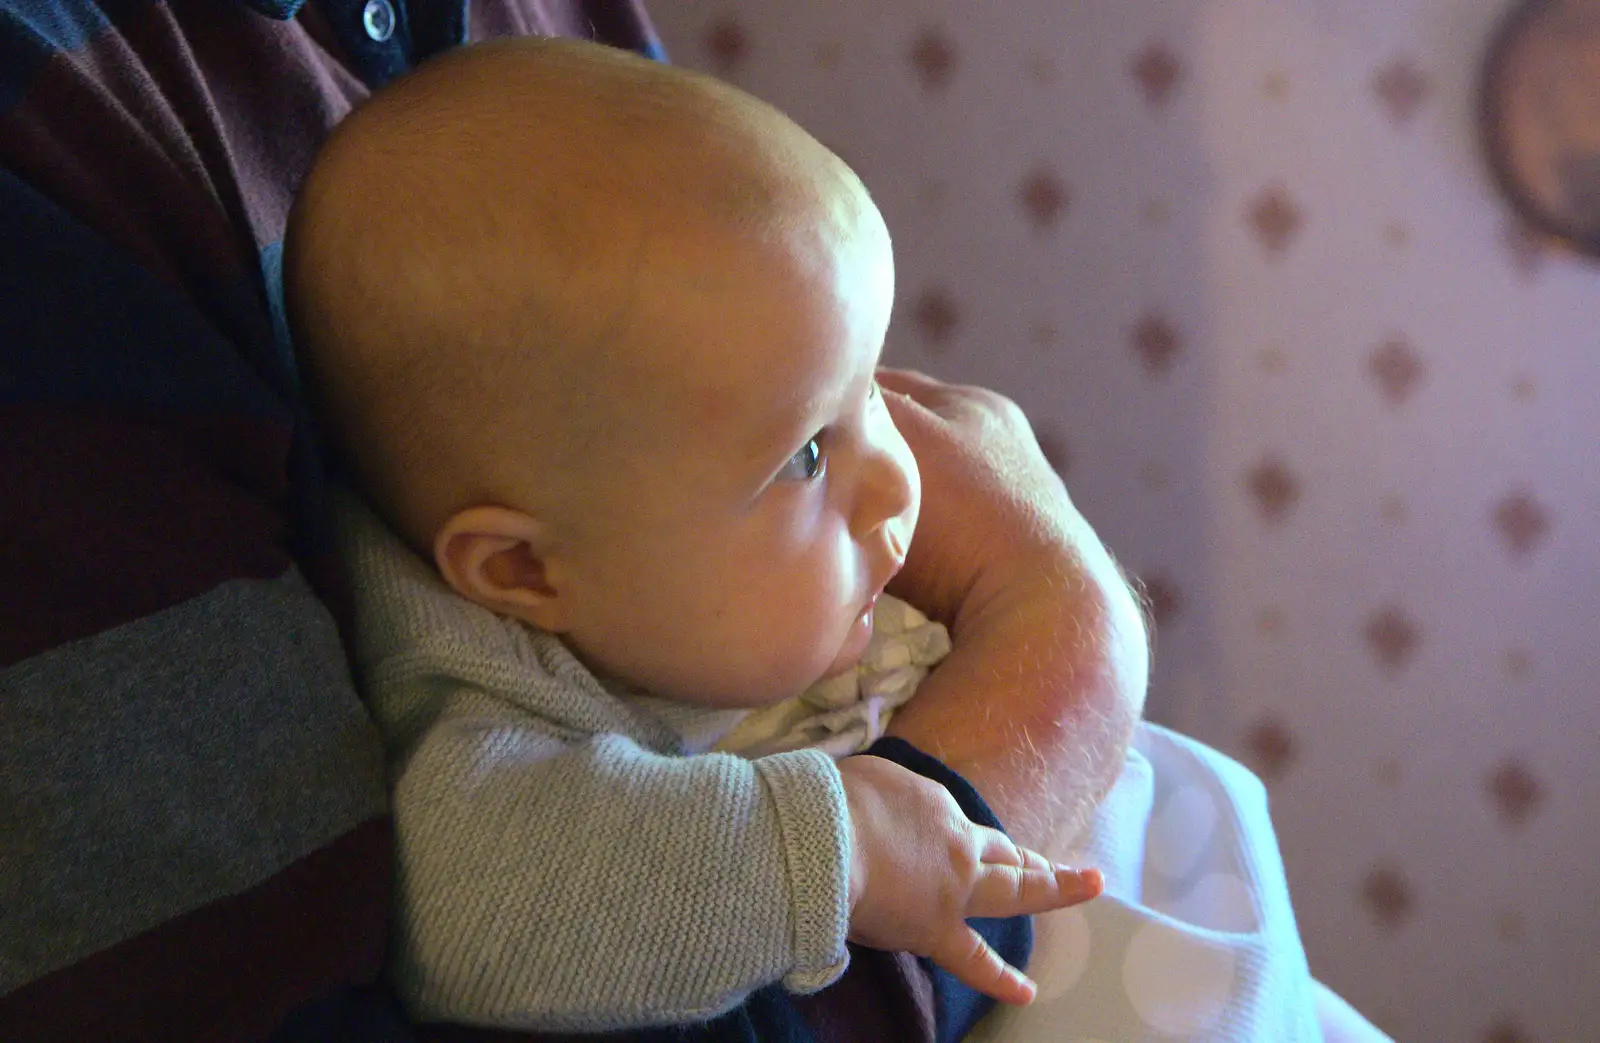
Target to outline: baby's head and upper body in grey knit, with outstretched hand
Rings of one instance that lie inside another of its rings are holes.
[[[382,518],[347,504],[346,558],[414,1014],[704,1019],[830,984],[846,937],[1032,998],[965,918],[1099,877],[794,739],[797,693],[856,677],[917,525],[875,379],[893,278],[867,192],[794,123],[592,45],[458,51],[318,157],[285,285]],[[923,624],[877,681],[939,654]],[[869,702],[915,677],[888,680]]]

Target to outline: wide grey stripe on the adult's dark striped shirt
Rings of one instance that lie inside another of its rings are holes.
[[[298,573],[22,661],[0,701],[0,993],[384,808],[382,747]]]

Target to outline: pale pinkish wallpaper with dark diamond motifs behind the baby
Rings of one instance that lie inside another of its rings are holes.
[[[1029,411],[1312,969],[1402,1040],[1600,1040],[1600,266],[1478,160],[1504,3],[650,6],[862,174],[890,360]]]

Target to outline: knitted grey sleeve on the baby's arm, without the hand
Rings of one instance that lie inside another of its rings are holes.
[[[459,694],[395,789],[395,977],[429,1019],[602,1030],[715,1016],[843,969],[850,825],[832,760],[566,742]]]

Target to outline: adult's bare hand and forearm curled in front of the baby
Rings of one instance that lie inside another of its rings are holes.
[[[954,638],[888,731],[1059,856],[1122,769],[1149,680],[1144,619],[1013,402],[904,370],[878,384],[922,470],[890,590]]]

